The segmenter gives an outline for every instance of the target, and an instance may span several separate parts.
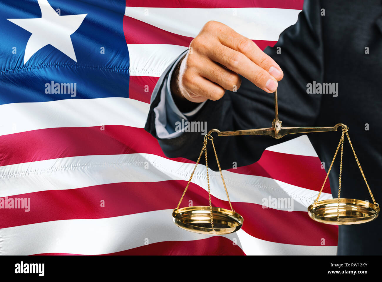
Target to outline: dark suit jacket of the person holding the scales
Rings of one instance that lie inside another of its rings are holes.
[[[382,1],[305,0],[297,23],[283,31],[277,44],[267,47],[265,53],[284,72],[284,78],[278,84],[278,111],[283,126],[346,124],[374,197],[382,203]],[[156,138],[153,109],[159,103],[160,95],[157,94],[165,87],[163,78],[171,67],[162,74],[155,87],[145,126]],[[319,90],[307,91],[309,83],[338,83],[338,96]],[[207,121],[208,130],[223,131],[270,127],[273,118],[274,95],[265,93],[242,77],[236,93],[226,91],[222,99],[207,101],[194,121]],[[368,130],[365,130],[366,124]],[[340,129],[338,132],[308,134],[321,161],[327,164],[326,170],[340,135]],[[218,153],[223,152],[220,153],[222,169],[227,169],[232,168],[233,161],[238,166],[254,163],[266,147],[297,136],[286,135],[279,140],[268,136],[216,137],[214,142]],[[159,139],[159,143],[168,157],[181,156],[196,161],[202,139],[200,132],[188,132],[173,139]],[[212,148],[208,150],[212,152]],[[214,161],[209,166],[217,170]],[[338,193],[338,173],[337,157],[329,177],[333,197]],[[341,197],[371,201],[347,141]],[[380,255],[381,233],[382,216],[361,225],[340,226],[338,254]]]

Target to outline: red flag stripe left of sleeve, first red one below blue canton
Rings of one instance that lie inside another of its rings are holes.
[[[104,130],[101,126],[38,129],[3,135],[0,142],[7,148],[0,152],[0,166],[89,155],[150,153],[167,158],[157,139],[143,128],[120,125],[105,125]]]

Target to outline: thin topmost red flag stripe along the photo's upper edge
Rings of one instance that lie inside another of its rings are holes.
[[[303,9],[303,0],[126,0],[126,7],[153,8],[281,8]]]

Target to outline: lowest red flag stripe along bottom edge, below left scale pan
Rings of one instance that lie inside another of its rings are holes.
[[[45,253],[35,256],[82,256],[82,254]],[[213,236],[194,241],[164,241],[150,243],[125,251],[100,256],[245,256],[243,250],[228,238]]]

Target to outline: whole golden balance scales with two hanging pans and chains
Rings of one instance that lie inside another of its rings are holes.
[[[216,154],[216,149],[214,145],[214,138],[211,136],[213,132],[217,132],[218,136],[231,136],[231,135],[269,135],[275,139],[280,139],[287,134],[298,134],[298,133],[309,133],[309,132],[322,132],[322,131],[337,131],[338,128],[342,129],[342,136],[340,142],[338,143],[337,149],[334,153],[332,163],[330,164],[328,173],[326,174],[324,183],[322,184],[321,190],[314,200],[314,203],[308,207],[308,214],[313,220],[321,223],[335,224],[335,225],[348,225],[348,224],[359,224],[369,222],[377,218],[379,214],[379,204],[376,203],[374,196],[371,192],[369,184],[367,184],[366,177],[363,173],[361,165],[359,164],[357,155],[354,151],[353,145],[350,141],[348,130],[349,128],[342,123],[336,124],[333,127],[284,127],[282,122],[278,119],[278,106],[277,106],[277,90],[275,91],[275,119],[272,121],[272,127],[260,128],[260,129],[248,129],[248,130],[235,130],[235,131],[220,131],[217,129],[212,129],[204,137],[202,151],[200,152],[199,158],[196,161],[191,177],[187,183],[187,186],[180,198],[178,206],[173,210],[172,218],[173,222],[185,230],[203,233],[203,234],[228,234],[235,232],[241,228],[243,225],[243,217],[235,212],[231,205],[230,197],[228,196],[227,187],[224,182],[222,170],[220,168],[219,160]],[[343,155],[343,143],[344,137],[347,137],[350,147],[353,150],[354,157],[358,164],[359,170],[365,180],[367,189],[369,190],[371,199],[373,203],[363,200],[356,199],[345,199],[340,198],[341,193],[341,175],[342,175],[342,155]],[[230,204],[231,210],[223,209],[220,207],[212,207],[211,205],[211,193],[210,193],[210,183],[209,183],[209,173],[208,173],[208,163],[207,163],[207,142],[211,141],[212,147],[214,148],[215,158],[217,165],[219,167],[220,176],[222,178],[223,186],[227,194],[228,202]],[[338,198],[321,200],[319,201],[322,189],[324,188],[325,182],[329,176],[330,170],[332,169],[334,160],[337,156],[338,150],[341,147],[341,158],[340,158],[340,174],[338,183]],[[198,165],[200,158],[204,152],[206,157],[206,170],[207,170],[207,186],[208,186],[208,197],[209,206],[191,206],[179,208],[186,194],[187,188],[191,182],[194,175],[196,166]]]

